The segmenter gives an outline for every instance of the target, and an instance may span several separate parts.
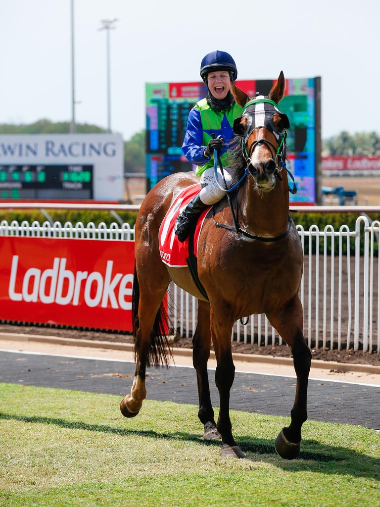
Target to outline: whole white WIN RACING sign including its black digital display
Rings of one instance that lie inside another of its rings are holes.
[[[118,201],[123,165],[120,134],[0,135],[0,197]]]

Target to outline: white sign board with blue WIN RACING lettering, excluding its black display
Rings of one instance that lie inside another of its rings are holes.
[[[95,200],[123,199],[123,162],[120,134],[0,135],[0,165],[92,165]]]

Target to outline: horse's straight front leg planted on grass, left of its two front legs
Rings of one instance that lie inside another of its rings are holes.
[[[219,417],[216,423],[223,442],[220,454],[226,457],[245,458],[240,447],[236,445],[230,420],[230,389],[235,377],[231,347],[231,330],[234,324],[234,317],[230,308],[218,303],[215,308],[211,306],[210,322],[211,338],[217,364],[215,383],[220,399]]]

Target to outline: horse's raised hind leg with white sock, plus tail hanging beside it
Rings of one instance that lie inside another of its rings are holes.
[[[141,261],[141,258],[139,260]],[[150,258],[147,264],[141,263],[141,266],[149,266],[149,269],[143,269],[143,276],[139,276],[135,269],[132,292],[135,314],[132,318],[135,322],[136,370],[131,394],[127,394],[120,404],[120,410],[125,417],[136,416],[146,397],[146,366],[158,367],[160,361],[167,362],[168,343],[160,318],[163,311],[162,300],[170,277],[160,259],[156,262]]]

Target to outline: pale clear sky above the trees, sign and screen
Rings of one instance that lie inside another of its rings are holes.
[[[145,127],[145,83],[198,81],[216,49],[238,79],[321,76],[322,138],[380,132],[378,0],[74,0],[79,123],[107,126],[111,18],[111,129],[125,140]],[[1,0],[0,58],[0,123],[71,120],[70,0]]]

